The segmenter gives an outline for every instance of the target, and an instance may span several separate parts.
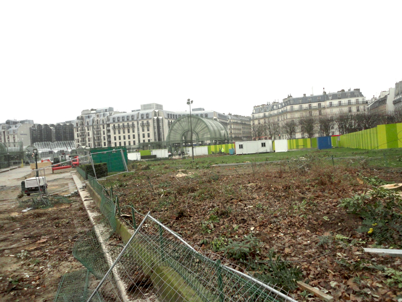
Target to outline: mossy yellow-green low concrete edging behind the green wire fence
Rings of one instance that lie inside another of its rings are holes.
[[[81,182],[85,181],[79,174],[76,174],[75,177],[77,177]],[[102,198],[95,192],[95,190],[93,190],[89,183],[86,183],[86,190],[99,208]],[[119,219],[116,219],[116,222],[116,234],[122,238],[123,242],[127,243],[133,233],[131,233],[127,226]],[[171,267],[163,266],[163,263],[158,260],[158,256],[150,255],[149,252],[146,251],[146,247],[138,242],[136,243],[136,248],[137,251],[140,251],[139,253],[136,253],[136,255],[147,254],[148,257],[138,257],[142,259],[136,257],[136,261],[141,264],[144,274],[151,277],[152,283],[161,295],[162,300],[178,302],[203,301],[176,271]]]

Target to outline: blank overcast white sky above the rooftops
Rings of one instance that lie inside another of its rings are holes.
[[[2,1],[0,122],[158,103],[250,115],[402,80],[402,1]]]

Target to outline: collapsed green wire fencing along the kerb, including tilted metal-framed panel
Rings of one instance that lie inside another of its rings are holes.
[[[137,227],[134,208],[135,232],[123,245],[112,235],[119,208],[112,192],[90,175],[88,184],[100,197],[100,213],[91,214],[93,229],[73,248],[88,275],[64,275],[56,298],[84,288],[79,301],[294,301],[220,256],[198,252],[149,214]]]

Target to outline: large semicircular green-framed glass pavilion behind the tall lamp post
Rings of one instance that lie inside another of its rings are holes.
[[[193,142],[209,142],[211,144],[222,143],[228,139],[228,131],[220,122],[191,115],[184,115],[173,122],[167,133],[168,144],[191,141],[191,129]]]

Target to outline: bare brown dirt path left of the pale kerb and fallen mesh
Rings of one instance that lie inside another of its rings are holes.
[[[70,174],[49,176],[48,184],[49,191],[70,186],[63,194],[75,189]],[[0,199],[18,194],[19,187],[8,188]],[[86,211],[78,197],[28,212],[9,202],[0,202],[0,300],[53,301],[61,275],[83,268],[72,248],[91,227]]]

